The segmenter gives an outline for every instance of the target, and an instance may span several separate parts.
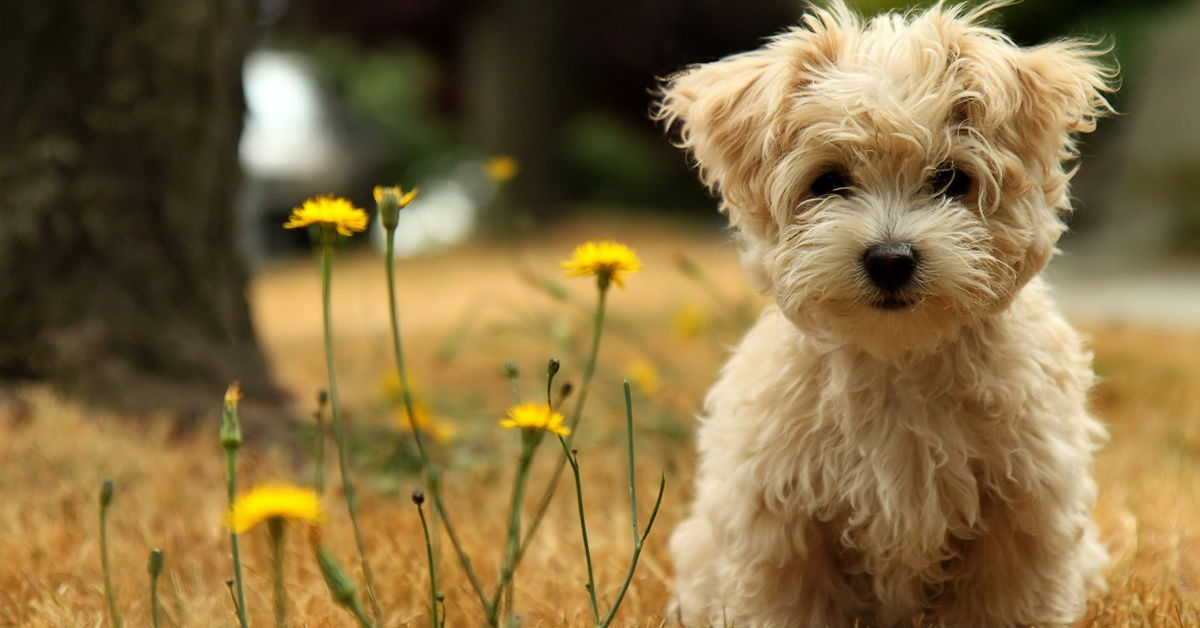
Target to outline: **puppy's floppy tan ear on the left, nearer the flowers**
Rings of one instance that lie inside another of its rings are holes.
[[[812,72],[833,64],[852,23],[857,18],[845,5],[833,2],[761,49],[664,82],[653,116],[678,132],[677,145],[696,160],[701,180],[720,195],[736,226],[769,222],[764,169],[780,154],[782,114]]]

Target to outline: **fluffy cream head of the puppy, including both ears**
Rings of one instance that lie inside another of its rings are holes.
[[[1000,4],[865,22],[834,0],[666,80],[656,118],[802,329],[930,351],[1050,259],[1115,72],[1093,44],[1015,46],[980,24]]]

